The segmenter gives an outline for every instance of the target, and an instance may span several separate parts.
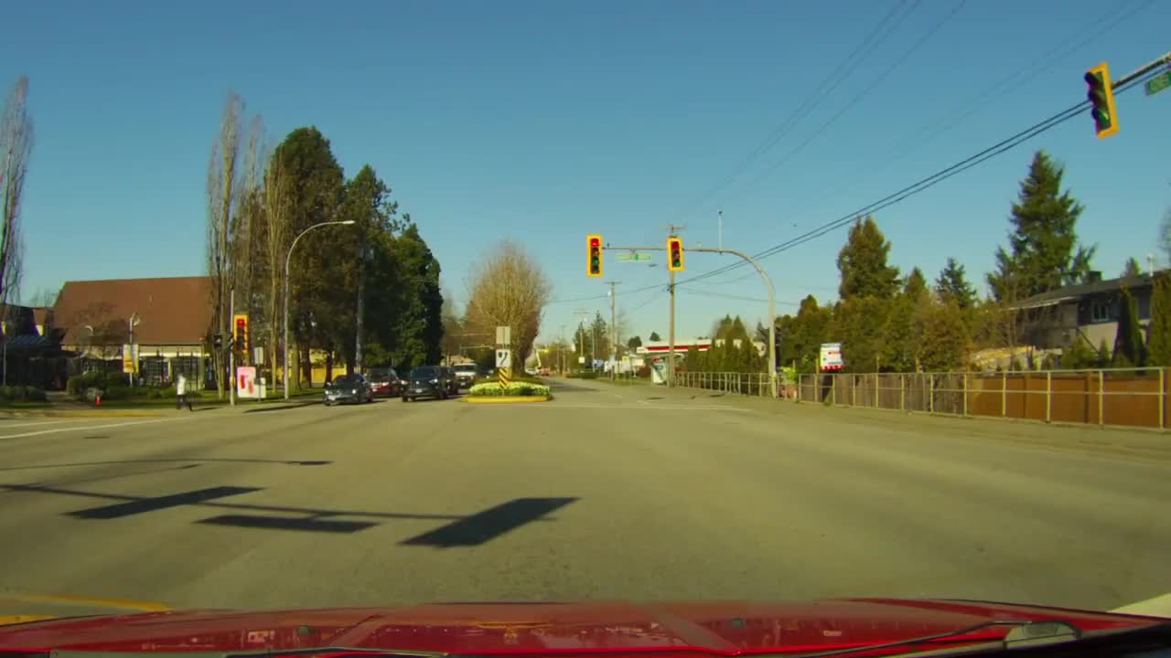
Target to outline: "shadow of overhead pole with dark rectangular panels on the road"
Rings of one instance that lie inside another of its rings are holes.
[[[433,546],[440,548],[479,546],[530,522],[554,521],[555,519],[546,516],[546,514],[577,500],[576,498],[519,498],[472,515],[324,509],[225,502],[220,500],[261,491],[263,488],[260,487],[221,486],[163,496],[136,496],[41,485],[0,484],[0,493],[41,493],[90,498],[108,502],[114,501],[112,505],[102,505],[66,513],[66,516],[84,520],[123,519],[176,507],[206,507],[230,509],[237,513],[200,519],[194,521],[196,523],[265,530],[356,533],[377,526],[381,520],[450,521],[450,523],[436,530],[399,542],[405,546]],[[338,519],[344,516],[361,520]]]

